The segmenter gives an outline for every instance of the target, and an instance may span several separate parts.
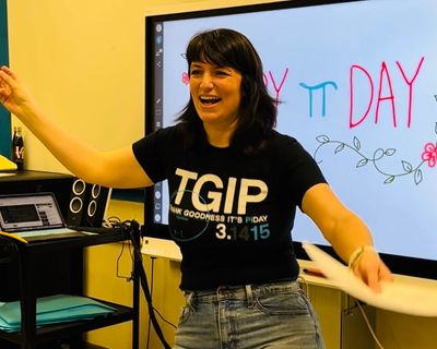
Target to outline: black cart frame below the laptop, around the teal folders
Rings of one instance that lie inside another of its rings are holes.
[[[22,312],[22,330],[21,333],[4,333],[0,330],[0,339],[7,342],[19,345],[20,348],[34,349],[42,344],[48,344],[58,339],[68,339],[76,337],[78,335],[127,321],[132,321],[132,348],[139,347],[139,294],[140,282],[138,273],[134,272],[133,278],[133,305],[132,308],[122,306],[119,304],[108,303],[115,306],[117,311],[110,316],[96,318],[93,321],[81,321],[74,323],[67,323],[55,326],[46,326],[36,328],[36,292],[35,285],[38,284],[38,276],[44,270],[38,270],[37,264],[34,263],[35,258],[42,254],[50,254],[57,251],[70,251],[72,249],[83,249],[91,245],[98,245],[123,241],[129,239],[119,231],[110,231],[98,233],[94,236],[85,236],[78,238],[68,238],[60,240],[52,240],[46,242],[33,242],[23,244],[21,242],[13,243],[17,249],[17,272],[20,279],[20,302]],[[137,262],[138,263],[138,262]],[[74,267],[74,266],[72,266]],[[139,265],[134,265],[134,270],[138,270]],[[54,276],[56,277],[56,276]],[[82,284],[80,284],[82,285]],[[79,291],[79,290],[73,290]],[[82,291],[82,290],[81,290]],[[56,291],[55,291],[56,293]],[[103,300],[99,300],[105,302]],[[1,344],[1,342],[0,342]],[[74,344],[76,347],[82,348],[80,341]],[[3,348],[3,347],[2,347]]]

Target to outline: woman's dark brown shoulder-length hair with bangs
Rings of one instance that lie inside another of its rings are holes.
[[[218,67],[229,67],[241,74],[241,103],[238,124],[231,146],[245,153],[256,153],[262,147],[276,123],[275,100],[269,95],[262,62],[249,39],[233,29],[218,28],[193,36],[187,47],[188,70],[193,61]],[[192,98],[178,117],[190,143],[205,142],[206,135]]]

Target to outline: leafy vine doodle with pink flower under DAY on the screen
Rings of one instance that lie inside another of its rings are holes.
[[[437,123],[435,124],[434,132],[437,134]],[[393,156],[395,154],[397,151],[394,148],[378,148],[374,152],[371,157],[368,157],[361,152],[362,143],[356,136],[354,136],[352,144],[347,144],[342,141],[331,140],[328,135],[324,134],[318,135],[316,137],[316,141],[320,143],[314,154],[314,158],[317,163],[321,163],[321,160],[317,159],[318,152],[327,145],[334,146],[334,154],[339,154],[340,152],[349,149],[354,152],[358,156],[356,168],[361,168],[366,165],[373,165],[375,169],[386,178],[386,180],[383,181],[385,184],[392,183],[399,177],[412,176],[414,179],[414,183],[417,185],[423,180],[422,167],[425,164],[427,164],[429,168],[433,168],[437,165],[437,143],[432,142],[428,142],[424,145],[424,151],[421,155],[422,161],[418,165],[414,167],[413,165],[411,165],[410,161],[401,160],[402,171],[394,173],[382,170],[380,166],[385,157]]]

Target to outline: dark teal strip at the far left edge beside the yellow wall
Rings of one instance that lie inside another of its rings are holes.
[[[0,64],[8,64],[8,12],[7,0],[0,0]],[[11,118],[4,108],[0,108],[0,154],[10,157]]]

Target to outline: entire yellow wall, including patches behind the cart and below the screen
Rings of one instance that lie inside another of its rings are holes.
[[[141,137],[144,129],[144,15],[256,2],[270,1],[11,0],[11,67],[39,105],[71,133],[104,149],[118,147]],[[66,171],[26,130],[24,136],[27,168]],[[135,204],[111,203],[111,212],[126,219],[142,217],[142,206]],[[115,277],[119,251],[119,244],[88,250],[88,290],[129,303],[130,284]],[[128,265],[123,260],[125,273]],[[144,265],[150,275],[151,261]],[[176,322],[181,304],[178,265],[158,260],[155,270],[156,308]],[[142,313],[144,344],[144,306]],[[129,348],[129,326],[96,330],[90,338],[109,348]],[[435,318],[377,312],[377,334],[389,349],[434,348],[436,327]],[[164,332],[173,340],[172,328],[165,326]]]

